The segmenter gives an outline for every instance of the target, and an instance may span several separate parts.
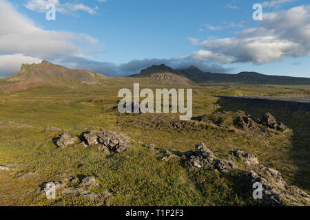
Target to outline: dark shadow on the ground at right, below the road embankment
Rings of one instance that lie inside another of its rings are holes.
[[[255,100],[241,98],[220,98],[217,111],[245,111],[260,118],[270,112],[278,122],[285,123],[293,130],[289,157],[297,167],[290,184],[310,190],[310,104],[275,100]]]

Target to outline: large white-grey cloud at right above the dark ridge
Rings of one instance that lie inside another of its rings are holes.
[[[220,63],[264,64],[285,57],[310,56],[310,5],[264,13],[258,28],[226,39],[190,39],[203,47],[193,58]]]

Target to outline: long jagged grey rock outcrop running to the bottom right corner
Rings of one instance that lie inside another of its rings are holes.
[[[244,166],[236,166],[234,157],[231,156],[227,160],[218,159],[205,144],[200,143],[189,157],[189,167],[192,170],[208,168],[220,172],[242,169],[246,171],[245,180],[249,181],[249,188],[252,188],[254,183],[262,185],[262,199],[266,199],[268,203],[276,206],[309,206],[310,197],[307,193],[296,186],[289,186],[277,170],[259,164],[255,155],[243,153],[240,149],[229,151],[229,155],[240,159]]]

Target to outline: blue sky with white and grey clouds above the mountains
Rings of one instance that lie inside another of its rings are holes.
[[[45,19],[47,3],[55,21]],[[252,19],[254,3],[262,21]],[[309,12],[301,0],[0,0],[0,76],[48,60],[108,76],[165,63],[310,77]]]

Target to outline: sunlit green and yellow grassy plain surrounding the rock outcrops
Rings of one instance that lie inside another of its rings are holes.
[[[110,78],[102,87],[55,89],[37,87],[10,93],[0,92],[0,164],[14,170],[0,170],[0,205],[19,206],[255,206],[264,201],[251,197],[238,173],[209,170],[189,172],[180,159],[165,162],[159,149],[194,150],[205,142],[211,151],[240,148],[254,153],[261,164],[279,170],[285,181],[310,192],[310,115],[309,110],[287,109],[276,104],[259,105],[236,100],[220,100],[214,95],[310,96],[310,86],[284,85],[208,85],[193,88],[193,116],[180,122],[178,113],[118,113],[117,93],[174,87],[136,78]],[[253,133],[225,124],[205,124],[198,118],[216,111],[246,111],[261,117],[271,112],[289,127],[287,133],[266,129]],[[12,121],[12,122],[6,122]],[[1,123],[2,122],[2,123]],[[180,125],[180,126],[175,126]],[[125,133],[134,139],[130,151],[105,155],[82,146],[59,149],[52,139],[63,131],[44,131],[48,127],[81,134],[90,126]],[[61,181],[63,174],[92,175],[99,186],[94,192],[110,191],[109,201],[92,203],[79,196],[59,195],[48,201],[37,193],[48,181]]]

